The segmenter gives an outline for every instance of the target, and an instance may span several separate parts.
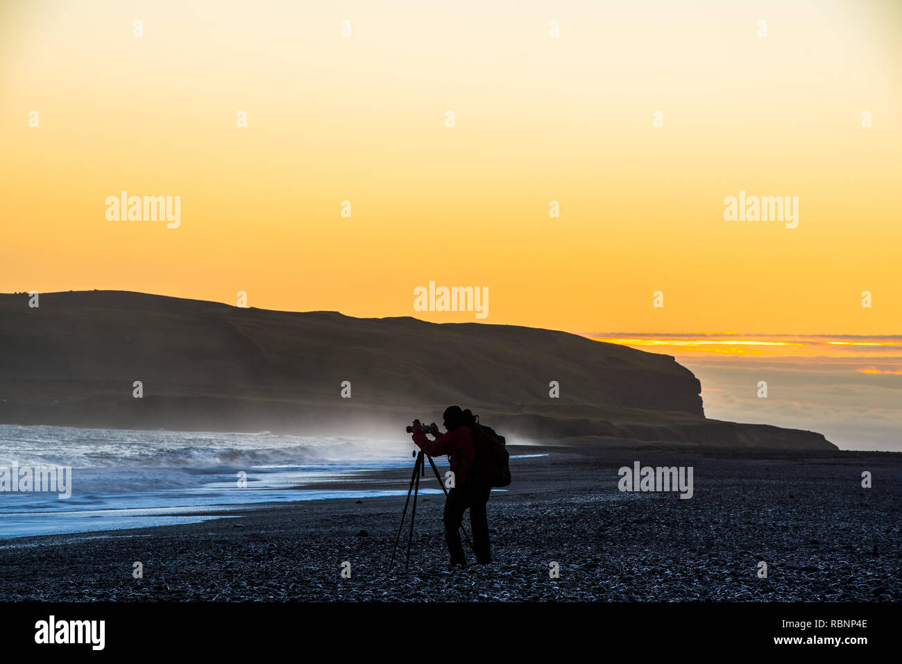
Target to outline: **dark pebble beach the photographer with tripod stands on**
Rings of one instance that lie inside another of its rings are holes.
[[[444,498],[426,495],[410,570],[389,573],[403,497],[331,499],[198,512],[237,519],[3,539],[0,601],[902,600],[898,453],[511,448],[544,452],[513,460],[514,484],[492,493],[491,566],[446,570]],[[634,461],[693,466],[693,498],[619,492],[617,468]],[[861,488],[864,470],[873,488]],[[376,479],[405,490],[409,481],[409,469]],[[435,478],[425,486],[437,488]],[[343,561],[351,578],[340,575]]]

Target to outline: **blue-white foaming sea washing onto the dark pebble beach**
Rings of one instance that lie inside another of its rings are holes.
[[[0,481],[0,539],[221,518],[254,503],[406,495],[305,489],[362,471],[411,468],[413,443],[261,433],[0,425],[0,480],[13,466],[71,467],[71,495],[13,492]],[[441,470],[444,457],[436,459]],[[22,472],[22,471],[20,471]],[[441,471],[444,472],[444,471]],[[435,478],[427,484],[437,484]],[[442,493],[420,485],[420,493]]]

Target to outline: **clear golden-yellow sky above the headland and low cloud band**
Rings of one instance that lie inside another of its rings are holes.
[[[474,321],[414,311],[436,281],[587,335],[898,334],[900,25],[892,0],[7,1],[0,291]],[[122,189],[180,196],[179,228],[107,221]],[[799,197],[798,227],[725,221],[740,190]]]

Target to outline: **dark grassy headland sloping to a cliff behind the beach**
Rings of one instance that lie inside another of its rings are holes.
[[[707,420],[700,392],[673,357],[547,329],[127,291],[43,293],[32,309],[27,294],[0,295],[5,423],[350,433],[440,422],[459,403],[522,437],[835,448],[809,431]]]

